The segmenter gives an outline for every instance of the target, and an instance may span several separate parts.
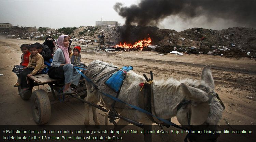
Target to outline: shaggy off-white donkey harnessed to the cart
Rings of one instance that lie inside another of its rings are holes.
[[[105,65],[102,65],[105,64]],[[114,65],[110,65],[103,61],[94,60],[91,62],[88,67],[85,75],[88,78],[93,78],[97,80],[97,76],[113,70]],[[105,69],[99,73],[99,71]],[[99,73],[99,74],[97,74]],[[97,74],[97,75],[95,75]],[[95,76],[94,76],[95,75]],[[111,75],[111,74],[110,74]],[[91,82],[86,81],[87,86],[87,97],[86,101],[97,104],[100,102],[103,106],[111,108],[113,100],[107,96],[104,96],[101,92],[110,95],[116,95],[113,90],[104,85],[104,82],[110,75],[107,75],[96,83],[97,88]],[[129,71],[126,74],[123,85],[120,88],[118,99],[139,107],[139,93],[141,87],[140,83],[146,82],[145,78],[141,75]],[[100,92],[99,92],[100,91]],[[211,66],[207,65],[203,68],[201,74],[201,80],[192,80],[192,79],[183,79],[177,81],[176,79],[169,78],[166,81],[164,80],[153,80],[153,94],[154,94],[154,109],[155,115],[162,119],[169,119],[176,116],[177,120],[181,125],[201,125],[202,123],[209,125],[217,125],[219,120],[222,117],[223,107],[220,100],[216,96],[213,96],[212,99],[209,99],[210,93],[214,92],[214,81],[211,72]],[[189,100],[189,103],[180,105],[181,102]],[[180,107],[179,109],[178,106]],[[152,125],[153,122],[147,117],[143,112],[133,109],[120,109],[128,108],[127,105],[123,103],[116,102],[115,109],[121,116],[129,118],[131,120],[141,122],[144,125]],[[96,108],[92,107],[93,110],[93,120],[95,125],[100,125]],[[89,125],[89,105],[85,104],[85,125]],[[190,116],[190,118],[189,118]],[[116,129],[122,129],[125,125],[129,123],[119,119],[117,122]],[[151,128],[145,128],[151,129]],[[150,135],[151,136],[151,135]],[[151,137],[145,141],[151,141]]]

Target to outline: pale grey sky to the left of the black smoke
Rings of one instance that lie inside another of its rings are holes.
[[[101,18],[124,23],[113,9],[116,2],[129,6],[139,1],[0,1],[0,23],[37,28],[92,26]]]

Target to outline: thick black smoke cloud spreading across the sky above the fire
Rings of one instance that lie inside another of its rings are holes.
[[[191,24],[205,17],[204,25],[223,19],[254,28],[255,7],[256,1],[141,1],[130,7],[116,3],[114,10],[126,19],[126,25],[158,26],[165,18],[178,16]]]

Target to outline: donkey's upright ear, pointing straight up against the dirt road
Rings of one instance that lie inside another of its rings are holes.
[[[214,81],[210,65],[206,65],[201,74],[201,80],[204,81],[210,88],[214,89]]]

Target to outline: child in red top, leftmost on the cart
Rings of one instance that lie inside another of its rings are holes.
[[[22,61],[20,62],[19,65],[15,65],[13,68],[13,72],[17,74],[18,76],[18,81],[17,83],[14,85],[14,87],[18,87],[20,85],[20,78],[19,78],[19,73],[26,69],[29,63],[29,44],[23,44],[20,46],[20,49],[22,50],[23,54],[22,54]]]

